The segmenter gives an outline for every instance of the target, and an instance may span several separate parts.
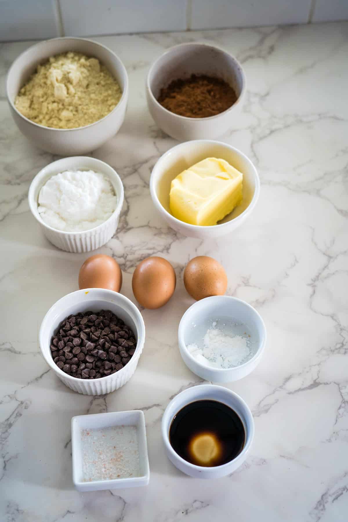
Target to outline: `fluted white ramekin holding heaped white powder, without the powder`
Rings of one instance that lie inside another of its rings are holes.
[[[110,218],[104,221],[104,223],[98,225],[98,227],[83,232],[65,232],[50,227],[42,220],[38,211],[40,189],[51,176],[66,170],[93,170],[95,172],[101,172],[110,180],[117,196],[117,206]],[[34,177],[28,194],[31,213],[34,218],[39,221],[46,238],[55,246],[61,248],[61,250],[65,250],[66,252],[90,252],[91,250],[100,248],[107,243],[117,229],[123,199],[123,184],[117,172],[110,167],[110,165],[107,165],[107,163],[87,156],[63,158],[50,163]]]

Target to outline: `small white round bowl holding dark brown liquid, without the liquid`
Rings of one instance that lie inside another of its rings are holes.
[[[216,400],[218,402],[222,402],[226,406],[229,406],[238,414],[239,418],[244,424],[246,437],[242,452],[239,453],[239,455],[237,455],[233,460],[226,462],[226,464],[223,464],[222,466],[212,466],[208,468],[191,464],[174,451],[169,441],[169,430],[176,413],[184,408],[184,406],[187,404],[190,404],[190,402],[204,399]],[[254,419],[251,415],[249,407],[244,402],[244,400],[239,397],[239,395],[231,392],[231,390],[227,388],[223,388],[222,386],[202,384],[199,386],[187,388],[171,400],[162,417],[162,437],[167,457],[179,470],[183,471],[183,473],[186,473],[187,475],[190,475],[190,477],[200,479],[217,479],[219,477],[225,477],[226,475],[229,475],[239,468],[241,464],[243,464],[254,438]]]

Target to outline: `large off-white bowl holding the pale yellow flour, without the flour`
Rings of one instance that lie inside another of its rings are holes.
[[[102,120],[85,127],[55,129],[38,125],[16,109],[15,98],[38,64],[47,61],[50,56],[67,51],[98,58],[118,81],[122,90],[121,100]],[[6,93],[15,123],[34,145],[53,154],[75,156],[97,149],[121,127],[127,108],[128,76],[118,56],[104,45],[82,38],[54,38],[32,45],[16,58],[7,75]]]

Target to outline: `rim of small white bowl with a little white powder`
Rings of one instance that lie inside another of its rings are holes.
[[[248,359],[246,362],[244,362],[243,364],[237,364],[237,366],[232,366],[231,368],[215,368],[213,366],[207,366],[205,364],[202,364],[200,363],[199,361],[197,361],[197,359],[195,359],[195,357],[193,357],[193,355],[188,351],[187,349],[187,346],[186,346],[186,343],[184,341],[184,329],[185,329],[185,326],[184,326],[184,320],[185,320],[185,316],[188,315],[189,311],[191,309],[193,309],[195,306],[197,306],[198,303],[202,302],[202,301],[206,301],[206,300],[210,300],[211,301],[215,301],[216,298],[218,299],[225,299],[229,302],[234,302],[234,303],[239,303],[239,305],[246,305],[246,307],[251,311],[251,313],[253,313],[260,325],[261,325],[261,328],[262,328],[262,331],[263,331],[263,339],[262,339],[262,342],[259,342],[259,346],[256,350],[256,353],[253,355],[253,357],[251,357],[251,359]],[[265,349],[265,346],[266,346],[266,341],[267,341],[267,330],[266,330],[266,326],[265,326],[265,323],[263,322],[263,319],[261,317],[261,315],[259,314],[259,312],[254,308],[254,306],[251,306],[251,304],[247,303],[246,301],[243,301],[243,299],[239,299],[237,297],[234,297],[233,295],[211,295],[210,297],[206,297],[204,299],[201,299],[200,301],[196,301],[195,303],[191,304],[191,306],[186,310],[186,312],[184,313],[184,315],[182,316],[181,318],[181,321],[179,323],[179,327],[178,327],[178,333],[177,333],[177,336],[178,336],[178,345],[179,345],[179,349],[180,350],[183,350],[185,352],[185,355],[187,355],[188,359],[193,361],[194,363],[196,363],[201,369],[204,369],[204,370],[209,370],[209,371],[213,371],[213,372],[216,372],[217,375],[220,374],[220,375],[223,375],[223,374],[227,374],[227,373],[233,373],[234,371],[236,370],[241,370],[241,369],[244,369],[244,368],[247,368],[250,364],[252,364],[253,362],[255,362],[257,359],[259,359],[259,357],[261,356],[263,350]],[[185,361],[184,361],[185,362]],[[186,364],[186,363],[185,363]]]

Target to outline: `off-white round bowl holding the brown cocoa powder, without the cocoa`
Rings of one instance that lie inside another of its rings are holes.
[[[157,101],[160,91],[171,81],[191,74],[218,77],[230,84],[237,95],[229,109],[207,118],[190,118],[174,114]],[[146,80],[148,108],[157,125],[179,141],[215,139],[237,123],[246,92],[241,64],[226,51],[206,43],[183,43],[163,53],[150,67]]]

